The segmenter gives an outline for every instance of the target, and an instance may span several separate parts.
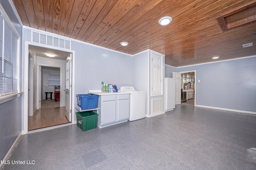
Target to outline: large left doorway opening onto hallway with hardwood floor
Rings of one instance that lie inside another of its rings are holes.
[[[72,95],[66,98],[65,91],[67,77],[72,80],[72,69],[66,64],[72,53],[32,45],[28,48],[28,131],[70,123]],[[47,57],[47,53],[55,57]],[[68,76],[66,70],[71,72]]]

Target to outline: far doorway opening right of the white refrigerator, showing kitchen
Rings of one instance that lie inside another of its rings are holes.
[[[181,72],[181,104],[195,106],[195,71]]]

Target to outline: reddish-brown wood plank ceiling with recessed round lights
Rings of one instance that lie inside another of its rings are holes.
[[[250,22],[228,31],[222,31],[216,20],[222,14],[246,10],[256,0],[13,2],[23,25],[132,55],[152,49],[175,67],[216,61],[214,56],[220,57],[218,61],[256,55],[255,6],[250,9]],[[158,24],[164,16],[172,17],[169,25]],[[121,46],[122,41],[129,45]],[[243,48],[247,43],[253,46]]]

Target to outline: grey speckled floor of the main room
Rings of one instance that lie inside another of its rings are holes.
[[[256,115],[178,105],[102,129],[70,125],[24,135],[10,161],[6,170],[253,170]]]

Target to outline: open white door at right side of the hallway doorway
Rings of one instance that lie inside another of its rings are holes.
[[[71,121],[71,98],[72,98],[72,54],[66,60],[66,117]]]

